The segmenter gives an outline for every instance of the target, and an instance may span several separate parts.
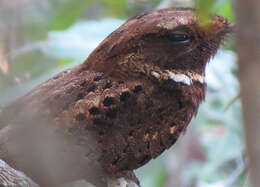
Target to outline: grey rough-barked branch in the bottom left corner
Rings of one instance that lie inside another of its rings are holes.
[[[40,187],[24,173],[11,168],[0,160],[0,186],[3,187]]]

